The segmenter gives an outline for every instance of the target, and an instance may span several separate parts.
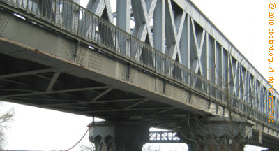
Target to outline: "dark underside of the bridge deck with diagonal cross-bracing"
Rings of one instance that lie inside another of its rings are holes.
[[[36,50],[1,41],[0,51],[8,52],[0,53],[1,100],[107,120],[147,122],[167,129],[178,128],[189,114],[95,80],[60,73],[52,65],[73,70],[80,66],[65,64]],[[45,64],[28,61],[30,58]]]

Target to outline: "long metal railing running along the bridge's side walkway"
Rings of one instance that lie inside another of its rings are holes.
[[[70,0],[0,0],[10,6],[33,15],[40,20],[53,24],[70,34],[107,48],[111,52],[144,66],[166,78],[174,80],[190,89],[217,100],[220,103],[252,115],[257,120],[269,123],[269,117],[261,111],[251,108],[247,100],[238,99],[227,90],[206,80],[206,78],[179,64],[162,52],[140,41],[116,27],[111,22],[77,5]],[[252,102],[252,101],[250,101]],[[232,106],[231,106],[232,105]],[[272,125],[274,126],[275,123]],[[279,128],[279,124],[276,124]]]

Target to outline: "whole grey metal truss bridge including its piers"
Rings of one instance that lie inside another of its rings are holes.
[[[75,2],[0,0],[1,100],[106,119],[97,150],[141,150],[149,127],[278,150],[278,92],[191,1]]]

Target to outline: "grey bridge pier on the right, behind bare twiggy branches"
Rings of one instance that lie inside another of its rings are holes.
[[[252,137],[252,124],[242,119],[206,117],[189,120],[180,133],[190,151],[240,151]]]

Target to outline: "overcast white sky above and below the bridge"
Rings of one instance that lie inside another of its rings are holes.
[[[84,3],[86,0],[80,1]],[[114,7],[115,1],[111,1],[112,8],[116,8]],[[269,63],[267,62],[269,1],[193,0],[193,2],[267,79],[269,76]],[[278,11],[276,12],[278,13]],[[277,19],[279,20],[278,17]],[[279,40],[278,36],[275,39]],[[278,50],[278,45],[275,47]],[[278,64],[278,53],[274,57],[277,62],[275,64]],[[278,73],[277,71],[276,68],[276,75],[279,75],[279,71]],[[278,88],[277,77],[275,87]],[[9,150],[66,150],[80,139],[86,131],[86,125],[92,121],[91,117],[14,103],[6,103],[5,108],[10,106],[15,108],[15,120],[6,133],[6,149]],[[88,136],[82,141],[82,144],[87,142]],[[160,149],[166,148],[165,146],[160,145]],[[183,150],[185,146],[178,145],[172,148]],[[75,150],[77,149],[75,148]],[[246,150],[253,149],[246,148]]]

